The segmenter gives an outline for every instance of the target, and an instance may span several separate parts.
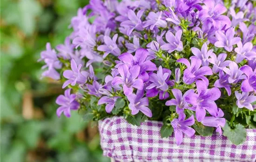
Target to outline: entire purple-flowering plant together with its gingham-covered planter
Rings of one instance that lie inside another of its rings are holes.
[[[90,0],[41,52],[42,76],[67,88],[57,115],[99,121],[118,161],[255,161],[255,6]]]

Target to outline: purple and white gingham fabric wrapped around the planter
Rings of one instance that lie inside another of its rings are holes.
[[[174,136],[161,138],[162,122],[130,125],[123,117],[99,121],[103,155],[120,162],[256,162],[256,129],[238,146],[227,137],[184,135],[180,146]]]

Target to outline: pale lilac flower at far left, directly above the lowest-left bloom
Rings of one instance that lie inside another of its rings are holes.
[[[74,86],[77,84],[83,84],[87,81],[87,77],[89,73],[87,71],[81,71],[82,64],[79,64],[77,67],[76,62],[74,59],[71,60],[71,69],[72,70],[65,70],[63,72],[63,76],[68,80],[64,82],[62,88],[67,87],[67,85],[71,84]]]

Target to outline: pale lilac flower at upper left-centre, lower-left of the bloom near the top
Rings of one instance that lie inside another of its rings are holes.
[[[121,54],[121,50],[116,44],[117,37],[118,34],[115,34],[112,39],[109,36],[104,36],[105,45],[100,45],[97,48],[97,50],[105,52],[103,58],[107,57],[110,53],[114,56],[119,56]]]

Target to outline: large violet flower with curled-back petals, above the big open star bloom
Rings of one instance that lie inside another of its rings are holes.
[[[180,58],[177,60],[177,62],[184,63],[187,66],[187,69],[185,69],[183,73],[184,83],[191,84],[198,79],[209,82],[204,75],[212,75],[212,70],[207,66],[203,66],[200,68],[202,61],[195,56],[191,56],[190,60],[191,64],[185,58]]]

